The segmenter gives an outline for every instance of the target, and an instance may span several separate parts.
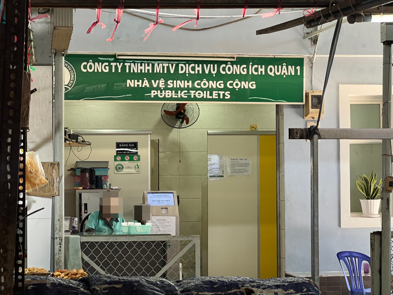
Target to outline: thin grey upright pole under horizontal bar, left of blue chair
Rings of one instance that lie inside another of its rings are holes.
[[[311,158],[311,279],[319,287],[318,134],[310,142]]]

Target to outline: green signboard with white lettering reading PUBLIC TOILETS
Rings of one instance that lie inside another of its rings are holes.
[[[144,102],[304,102],[303,58],[127,59],[68,54],[66,100]]]

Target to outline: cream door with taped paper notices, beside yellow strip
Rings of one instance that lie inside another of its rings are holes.
[[[257,278],[259,136],[209,135],[208,154],[251,158],[250,176],[208,181],[208,275]]]

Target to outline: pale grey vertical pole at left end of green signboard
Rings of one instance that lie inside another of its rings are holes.
[[[55,97],[53,104],[53,155],[59,162],[59,196],[54,197],[54,267],[64,268],[64,52],[55,53]]]

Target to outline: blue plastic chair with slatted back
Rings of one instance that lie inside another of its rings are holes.
[[[337,253],[337,258],[340,261],[341,269],[343,270],[345,281],[347,282],[349,294],[371,294],[371,289],[364,289],[362,277],[363,262],[366,261],[371,266],[370,256],[359,252],[342,251]],[[351,286],[349,286],[348,278],[342,262],[344,262],[347,266],[349,278],[351,279]]]

